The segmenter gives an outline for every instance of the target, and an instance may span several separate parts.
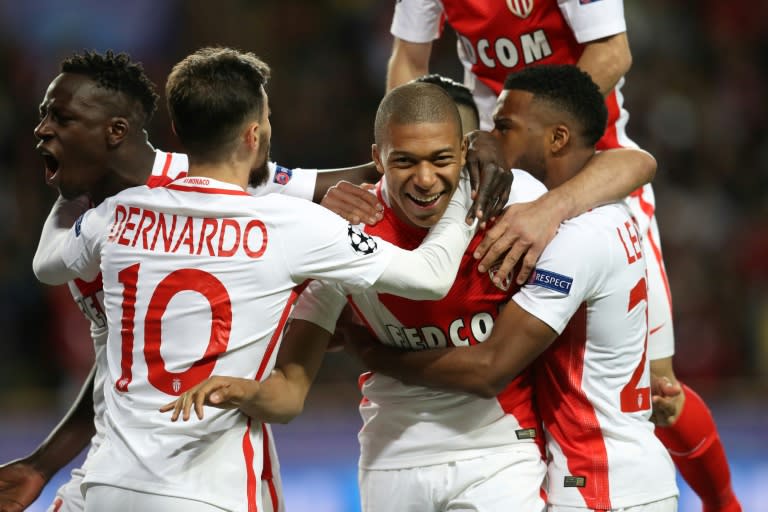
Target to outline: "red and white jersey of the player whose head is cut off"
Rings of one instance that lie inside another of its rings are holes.
[[[483,129],[504,80],[535,64],[576,64],[584,43],[626,31],[621,0],[402,0],[395,4],[392,34],[405,41],[437,39],[448,23],[458,36],[464,82],[474,95]],[[625,126],[623,79],[606,98],[608,129],[598,149],[634,147]]]

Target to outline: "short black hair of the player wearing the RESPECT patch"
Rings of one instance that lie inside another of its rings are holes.
[[[545,101],[567,112],[581,124],[586,144],[594,146],[605,132],[608,110],[600,88],[573,65],[530,66],[510,74],[504,90],[527,91],[534,101]]]

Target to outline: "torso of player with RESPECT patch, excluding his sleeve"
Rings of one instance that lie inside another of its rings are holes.
[[[554,504],[619,508],[676,492],[672,462],[648,420],[645,255],[623,210],[603,207],[581,219],[601,225],[610,279],[534,368]]]

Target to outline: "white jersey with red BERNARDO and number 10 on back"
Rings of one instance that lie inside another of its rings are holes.
[[[399,250],[355,243],[346,221],[309,201],[201,177],[135,187],[86,212],[62,247],[68,268],[101,271],[110,322],[107,431],[86,484],[260,507],[259,425],[215,408],[172,423],[158,409],[214,372],[269,375],[297,285],[365,288]]]

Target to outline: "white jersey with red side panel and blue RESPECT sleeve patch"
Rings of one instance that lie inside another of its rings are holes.
[[[614,510],[677,495],[654,435],[646,255],[624,205],[564,222],[512,300],[560,336],[534,366],[550,504]]]

